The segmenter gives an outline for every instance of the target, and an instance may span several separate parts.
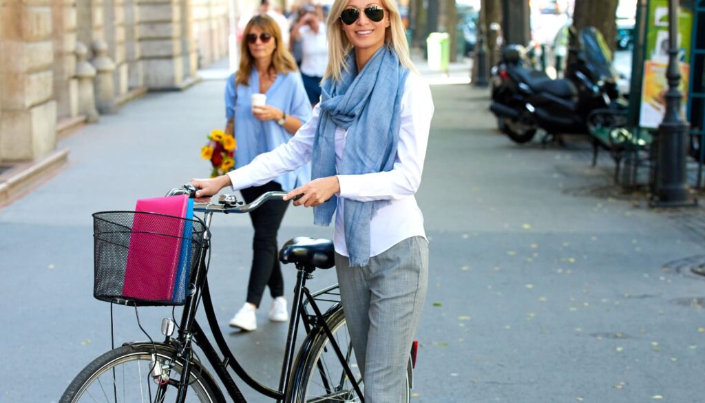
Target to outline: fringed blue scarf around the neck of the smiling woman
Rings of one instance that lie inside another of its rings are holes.
[[[409,71],[395,52],[381,47],[355,74],[355,52],[346,59],[341,80],[321,85],[321,114],[313,144],[312,179],[391,171],[399,143],[400,104]],[[336,172],[336,128],[348,131]],[[330,225],[338,203],[333,196],[314,207],[314,224]],[[369,223],[388,200],[343,200],[345,243],[351,266],[369,261]]]

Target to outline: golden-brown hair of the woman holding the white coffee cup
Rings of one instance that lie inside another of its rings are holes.
[[[268,70],[274,70],[276,73],[297,71],[296,61],[294,61],[293,56],[291,56],[288,49],[286,49],[286,46],[283,46],[281,30],[276,21],[265,15],[254,16],[247,22],[245,32],[243,32],[243,40],[240,43],[240,68],[238,68],[238,72],[235,73],[235,82],[242,85],[250,85],[250,73],[252,72],[252,66],[255,64],[255,60],[252,58],[252,54],[250,54],[250,47],[247,44],[247,35],[250,33],[250,30],[252,30],[252,27],[255,26],[259,27],[262,32],[271,35],[271,38],[276,44],[274,53],[271,55],[271,64]]]

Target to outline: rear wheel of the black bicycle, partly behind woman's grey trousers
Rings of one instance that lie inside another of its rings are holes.
[[[360,390],[364,392],[362,384],[362,375],[360,369],[357,368],[355,353],[353,353],[353,344],[350,343],[350,334],[348,333],[348,325],[345,323],[343,310],[338,309],[327,321],[333,339],[336,340],[338,347],[345,356],[345,360],[350,367],[350,370],[355,376],[355,380],[360,385]],[[292,391],[290,392],[289,402],[291,403],[333,403],[333,402],[360,402],[360,398],[355,393],[353,384],[345,375],[343,364],[338,359],[336,351],[331,346],[331,340],[324,332],[314,337],[310,344],[310,349],[305,351],[306,342],[302,347],[302,354],[298,361],[304,360],[304,363],[298,363],[295,371],[298,371],[292,381]],[[402,402],[409,402],[410,398],[410,377],[411,366],[407,371],[406,396]]]

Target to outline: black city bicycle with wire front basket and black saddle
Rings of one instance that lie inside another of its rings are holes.
[[[185,185],[182,188],[172,189],[167,196],[187,194],[192,198],[195,190],[193,186]],[[147,335],[149,342],[127,342],[94,359],[68,385],[60,402],[226,402],[219,384],[198,358],[194,344],[203,352],[233,402],[246,403],[246,400],[233,376],[228,372],[228,368],[231,368],[240,380],[252,387],[259,395],[275,399],[276,402],[364,402],[362,393],[364,385],[355,364],[353,346],[350,343],[343,308],[339,301],[340,294],[337,292],[338,285],[334,284],[314,293],[306,288],[306,280],[312,278],[312,273],[317,268],[333,267],[332,241],[297,237],[286,242],[279,251],[281,262],[294,263],[297,275],[277,389],[259,383],[245,371],[233,351],[228,348],[217,323],[207,281],[211,238],[209,228],[213,214],[250,212],[267,200],[281,200],[284,195],[286,192],[264,193],[250,204],[239,202],[233,195],[220,196],[217,203],[195,203],[194,212],[203,213],[203,218],[194,217],[190,223],[193,226],[190,241],[192,241],[194,263],[187,283],[188,287],[184,292],[184,308],[180,325],[176,325],[175,320],[171,318],[164,318],[161,322],[161,333],[166,337],[164,342],[154,342]],[[94,222],[97,223],[97,220],[109,221],[109,218],[115,219],[130,213],[136,214],[135,212],[103,212],[94,213],[93,216]],[[98,223],[95,224],[95,228],[98,228],[98,225]],[[110,244],[101,247],[114,247],[114,244],[119,243],[116,241],[115,233],[125,232],[127,235],[121,235],[125,238],[129,237],[130,231],[132,231],[131,225],[125,222],[116,223],[115,228],[111,227],[110,231],[106,231],[109,233]],[[201,236],[202,239],[200,239]],[[94,237],[106,238],[104,235],[96,234]],[[124,245],[121,246],[124,248]],[[99,246],[96,243],[96,265],[101,263],[99,256]],[[96,287],[98,285],[96,284]],[[135,312],[137,312],[137,305],[176,305],[173,301],[145,303],[145,301],[121,297],[104,300],[133,305]],[[203,332],[203,327],[195,319],[201,303],[209,329],[218,347],[217,351]],[[330,303],[330,306],[323,310],[321,303]],[[294,346],[299,323],[302,323],[306,335],[295,356]],[[137,324],[140,325],[138,314]],[[141,325],[140,328],[142,328]],[[177,330],[176,337],[172,337],[175,330]],[[416,346],[415,342],[407,365],[407,391],[413,386]],[[410,393],[407,392],[405,402],[409,399]]]

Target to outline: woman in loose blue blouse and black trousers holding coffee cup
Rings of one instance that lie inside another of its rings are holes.
[[[311,117],[296,62],[281,39],[278,24],[269,16],[255,16],[245,26],[240,46],[240,68],[226,85],[226,132],[233,133],[238,147],[235,168],[244,167],[257,155],[285,144]],[[266,104],[252,107],[252,94],[266,95]],[[268,191],[290,191],[310,180],[310,167],[271,177],[256,186],[243,186],[240,192],[247,203]],[[269,201],[250,213],[255,237],[252,240],[252,268],[247,284],[247,299],[230,321],[232,327],[257,329],[255,312],[269,287],[272,301],[269,320],[286,322],[288,309],[284,282],[277,259],[276,235],[288,203]]]

